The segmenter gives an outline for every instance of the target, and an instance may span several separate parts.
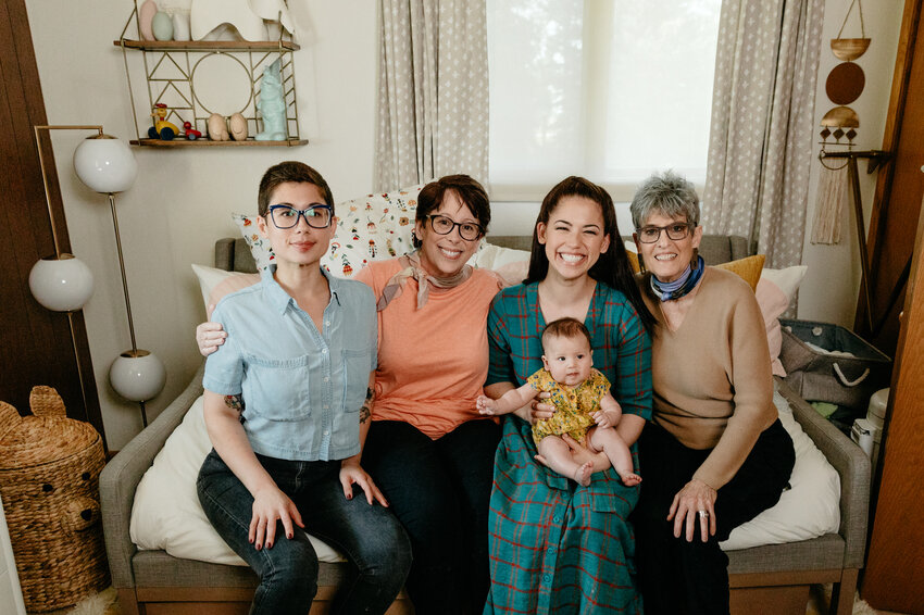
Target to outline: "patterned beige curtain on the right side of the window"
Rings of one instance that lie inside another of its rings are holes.
[[[702,218],[799,264],[824,0],[724,0]]]

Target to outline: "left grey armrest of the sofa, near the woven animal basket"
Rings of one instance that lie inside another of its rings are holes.
[[[202,394],[203,371],[204,363],[186,390],[118,451],[100,474],[100,510],[105,552],[112,572],[112,585],[116,589],[135,586],[132,557],[137,548],[128,534],[135,490],[167,437],[183,422],[192,402]]]

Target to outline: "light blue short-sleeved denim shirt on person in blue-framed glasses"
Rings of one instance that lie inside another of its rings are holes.
[[[292,460],[340,460],[360,452],[359,411],[376,366],[372,290],[327,277],[330,302],[319,332],[273,279],[226,296],[212,321],[228,334],[205,362],[204,387],[241,393],[244,430],[253,451]]]

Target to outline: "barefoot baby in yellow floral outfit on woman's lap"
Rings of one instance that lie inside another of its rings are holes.
[[[542,369],[498,400],[480,396],[476,402],[478,412],[507,414],[526,405],[540,392],[549,392],[552,396],[549,403],[555,406],[555,413],[533,425],[533,439],[546,465],[585,487],[590,484],[594,464],[574,461],[561,438],[567,434],[592,452],[605,453],[623,485],[632,487],[641,482],[641,477],[633,472],[628,447],[614,429],[622,410],[610,394],[610,381],[594,369],[587,327],[574,318],[549,323],[542,330]]]

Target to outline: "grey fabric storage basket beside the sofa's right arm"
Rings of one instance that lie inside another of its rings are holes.
[[[889,386],[891,359],[852,331],[812,321],[781,318],[779,323],[779,361],[786,369],[785,380],[803,399],[863,413],[870,396]]]

